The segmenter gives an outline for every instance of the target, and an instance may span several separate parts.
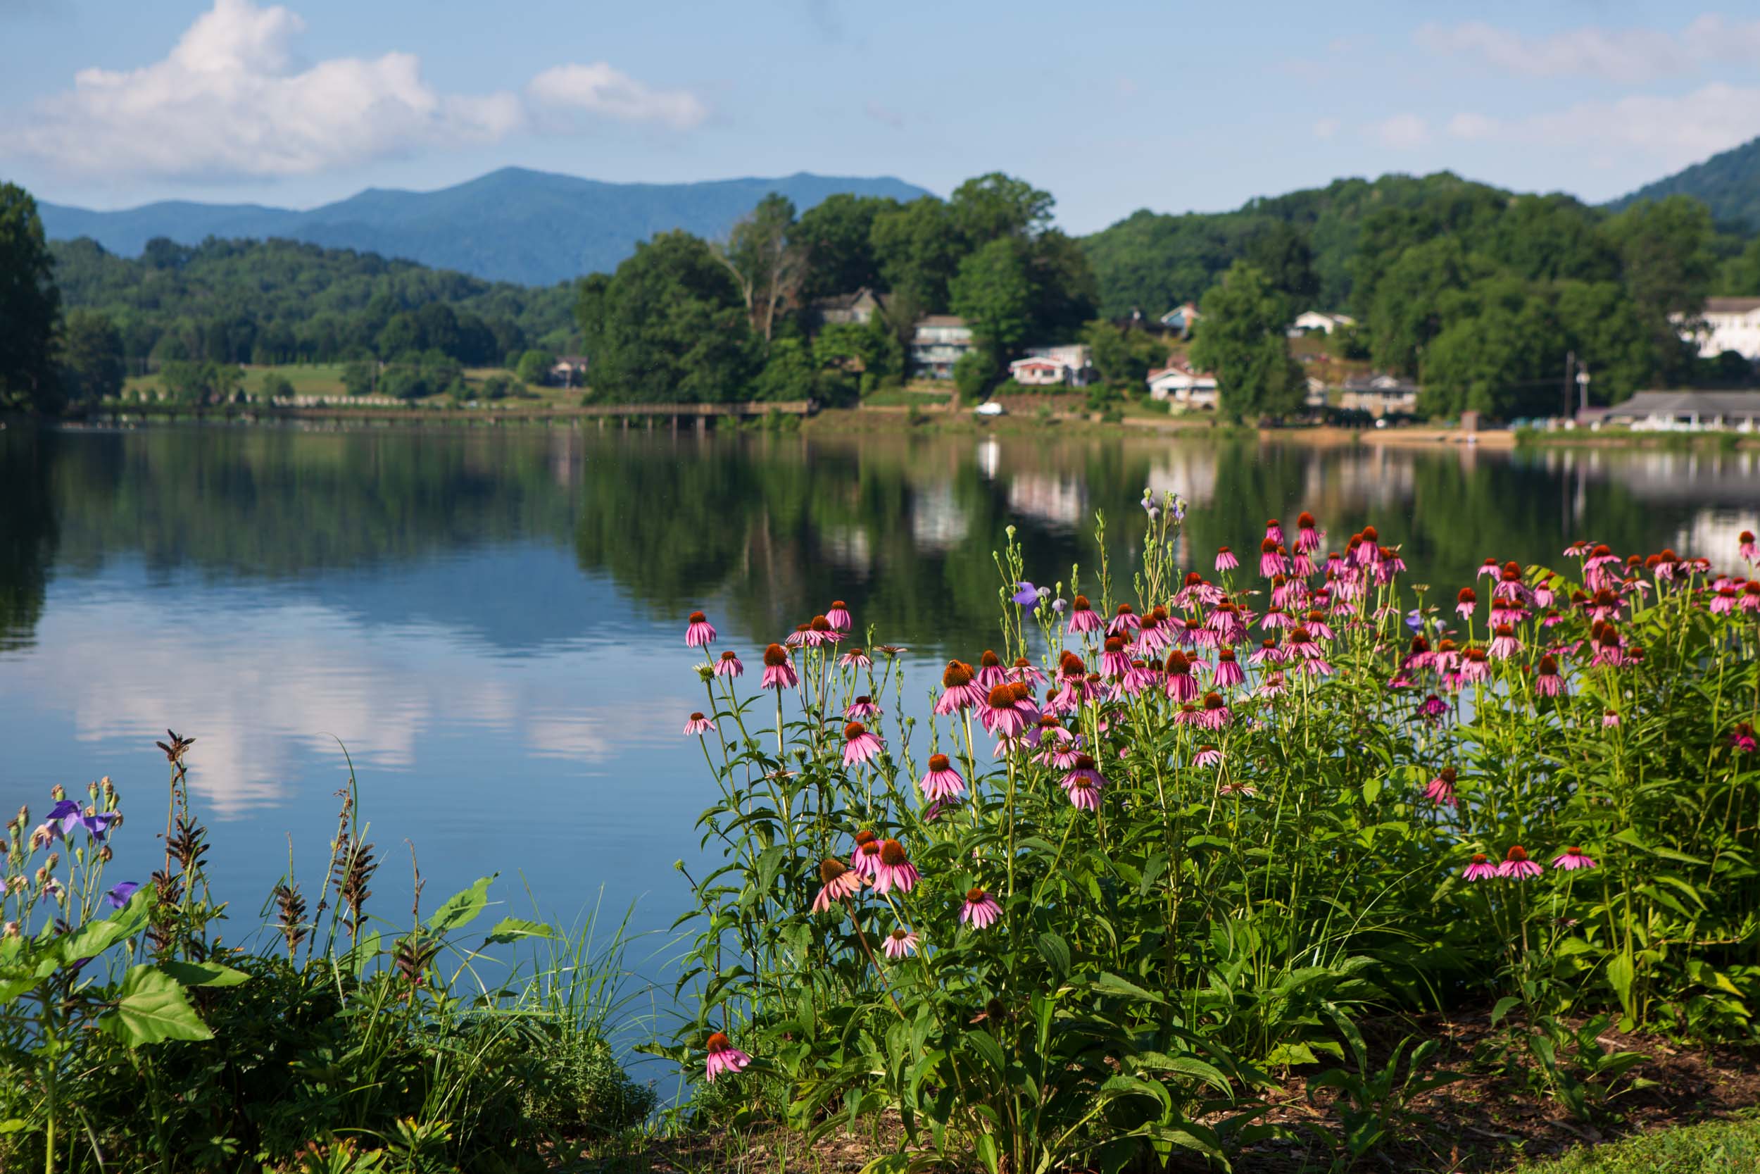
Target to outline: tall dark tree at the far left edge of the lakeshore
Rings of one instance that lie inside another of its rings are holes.
[[[62,296],[30,192],[0,183],[0,408],[60,403],[55,327]]]

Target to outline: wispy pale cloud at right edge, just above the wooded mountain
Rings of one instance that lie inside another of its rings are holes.
[[[1463,139],[1579,150],[1600,162],[1639,157],[1646,169],[1674,171],[1760,136],[1760,88],[1716,83],[1674,97],[1579,102],[1512,120],[1456,114],[1448,132]]]

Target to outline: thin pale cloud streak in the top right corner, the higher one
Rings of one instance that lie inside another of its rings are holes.
[[[1716,62],[1748,63],[1760,53],[1760,21],[1700,16],[1679,33],[1660,28],[1572,28],[1524,37],[1484,21],[1424,25],[1417,42],[1440,55],[1478,58],[1521,77],[1600,77],[1635,83],[1691,74]]]

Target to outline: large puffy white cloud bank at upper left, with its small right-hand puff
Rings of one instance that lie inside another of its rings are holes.
[[[164,60],[79,70],[72,90],[0,116],[0,155],[40,158],[69,174],[292,176],[493,143],[533,121],[517,93],[436,92],[408,53],[299,67],[303,32],[304,21],[285,7],[215,0]],[[532,100],[669,127],[704,114],[690,93],[649,90],[605,63],[544,70]]]

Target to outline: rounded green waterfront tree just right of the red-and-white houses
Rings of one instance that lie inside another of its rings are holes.
[[[1271,278],[1237,260],[1204,294],[1202,310],[1192,363],[1216,373],[1221,410],[1237,421],[1299,412],[1302,370],[1287,341],[1294,313]]]

